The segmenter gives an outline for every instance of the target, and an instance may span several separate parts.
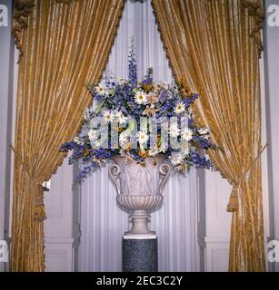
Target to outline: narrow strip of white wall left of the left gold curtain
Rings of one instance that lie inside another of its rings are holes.
[[[0,26],[0,240],[9,240],[10,170],[14,94],[15,44],[11,37],[12,1],[1,1],[8,9],[8,26]],[[0,272],[4,264],[0,263]]]

